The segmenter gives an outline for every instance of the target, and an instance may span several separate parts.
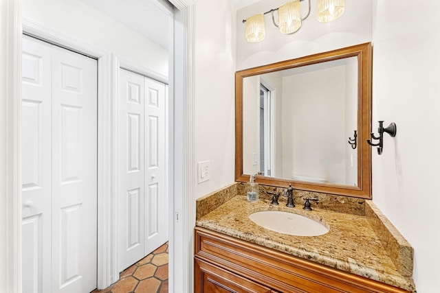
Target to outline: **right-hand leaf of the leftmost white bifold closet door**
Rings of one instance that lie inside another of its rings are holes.
[[[97,62],[52,48],[52,292],[90,292],[97,280]]]

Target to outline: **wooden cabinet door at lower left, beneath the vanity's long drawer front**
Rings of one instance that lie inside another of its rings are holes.
[[[195,293],[271,293],[259,283],[195,259]]]

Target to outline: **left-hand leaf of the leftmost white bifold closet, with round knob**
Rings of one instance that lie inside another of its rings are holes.
[[[23,292],[51,292],[52,46],[23,36]]]

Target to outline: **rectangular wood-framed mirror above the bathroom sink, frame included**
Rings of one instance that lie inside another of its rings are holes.
[[[235,180],[371,198],[371,43],[235,73]]]

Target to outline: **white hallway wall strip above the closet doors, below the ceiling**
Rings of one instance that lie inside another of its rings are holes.
[[[22,14],[168,77],[166,49],[82,1],[22,0]]]

